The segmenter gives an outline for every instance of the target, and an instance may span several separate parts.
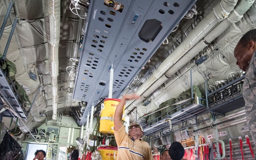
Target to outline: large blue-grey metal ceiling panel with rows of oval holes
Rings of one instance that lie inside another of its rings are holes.
[[[108,98],[111,64],[118,98],[195,1],[91,1],[73,95],[89,106],[80,125],[93,102]]]

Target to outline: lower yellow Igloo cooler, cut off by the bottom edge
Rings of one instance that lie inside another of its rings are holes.
[[[104,146],[97,148],[102,156],[102,160],[116,160],[117,158],[117,147]]]

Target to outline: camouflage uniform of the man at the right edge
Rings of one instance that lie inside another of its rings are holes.
[[[254,144],[256,144],[256,73],[254,73],[254,70],[256,70],[255,53],[256,52],[254,52],[253,57],[251,58],[243,84],[246,119]],[[256,147],[254,149],[254,159],[255,158]]]

